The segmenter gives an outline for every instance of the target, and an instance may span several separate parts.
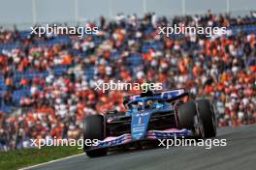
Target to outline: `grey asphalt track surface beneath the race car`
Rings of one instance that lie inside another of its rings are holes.
[[[172,147],[112,153],[89,158],[85,155],[59,160],[37,170],[255,170],[256,125],[219,128],[217,138],[226,147]]]

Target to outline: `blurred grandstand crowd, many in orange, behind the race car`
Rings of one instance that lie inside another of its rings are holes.
[[[0,30],[0,44],[18,44],[0,50],[0,108],[8,108],[0,109],[0,151],[29,147],[29,139],[79,139],[86,115],[124,111],[123,96],[140,92],[95,90],[95,82],[112,79],[161,82],[164,90],[183,87],[193,98],[212,99],[218,127],[256,123],[256,27],[244,29],[256,25],[255,17],[117,14],[88,24],[99,34],[39,38]],[[228,32],[157,34],[158,26],[174,24]]]

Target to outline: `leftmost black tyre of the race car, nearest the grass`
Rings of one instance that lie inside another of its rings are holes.
[[[83,140],[86,139],[98,139],[103,140],[105,138],[105,126],[104,126],[104,117],[102,115],[91,115],[87,116],[83,121]],[[83,146],[83,151],[87,156],[97,157],[97,156],[106,156],[108,153],[107,149],[94,149],[89,150],[90,147]]]

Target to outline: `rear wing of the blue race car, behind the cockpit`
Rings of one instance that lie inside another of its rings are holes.
[[[163,92],[158,92],[153,95],[153,97],[159,97],[161,99],[165,99],[166,101],[172,101],[178,98],[181,98],[183,96],[189,97],[189,94],[185,91],[185,89],[174,89],[170,91],[163,91]],[[134,99],[140,98],[141,95],[132,95],[128,97],[124,97],[123,102],[129,102]]]

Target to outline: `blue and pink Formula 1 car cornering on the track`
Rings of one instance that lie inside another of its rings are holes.
[[[132,147],[142,141],[176,137],[216,136],[215,113],[208,99],[191,100],[184,89],[142,93],[124,98],[125,113],[87,116],[83,139],[87,156],[106,156],[108,151]]]

